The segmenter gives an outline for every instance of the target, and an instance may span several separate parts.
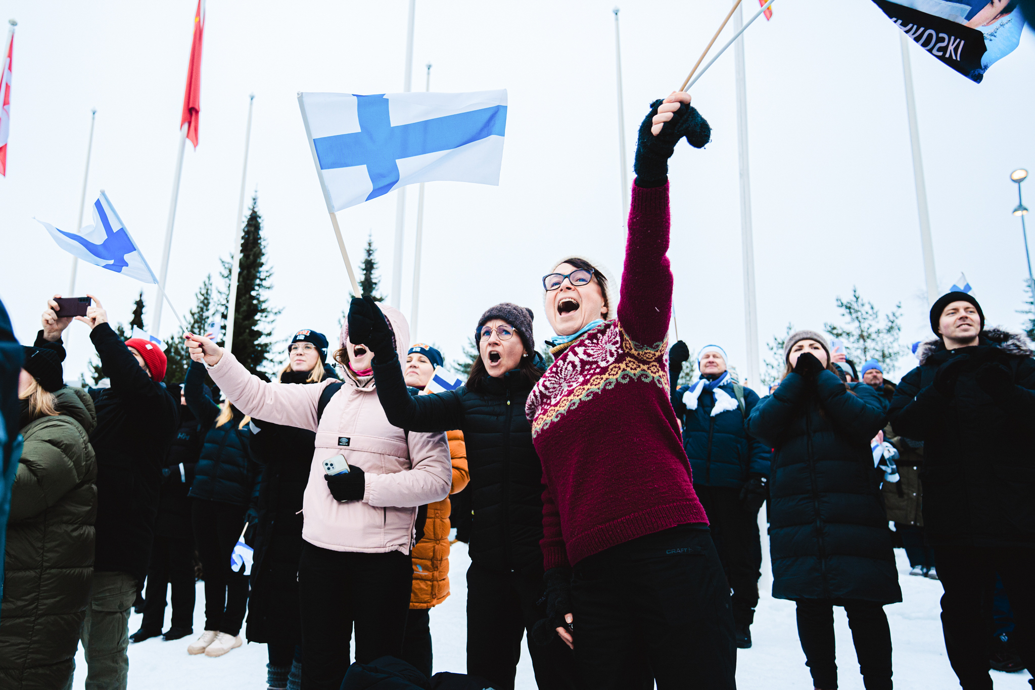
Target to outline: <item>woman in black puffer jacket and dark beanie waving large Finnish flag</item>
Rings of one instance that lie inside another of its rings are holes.
[[[467,571],[467,671],[512,690],[522,635],[542,619],[542,467],[525,400],[542,376],[532,310],[503,302],[475,328],[478,358],[456,390],[411,397],[378,305],[353,299],[349,330],[374,352],[388,421],[410,431],[460,429],[467,443],[474,521]],[[557,638],[529,644],[541,690],[575,687],[571,652]]]

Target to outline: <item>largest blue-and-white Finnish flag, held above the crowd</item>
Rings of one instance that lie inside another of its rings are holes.
[[[499,184],[507,92],[299,93],[331,212],[417,182]]]

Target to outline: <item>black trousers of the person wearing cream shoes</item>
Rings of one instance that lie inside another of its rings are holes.
[[[247,608],[248,578],[230,569],[230,554],[244,529],[244,506],[195,499],[190,521],[205,574],[205,630],[236,635]]]

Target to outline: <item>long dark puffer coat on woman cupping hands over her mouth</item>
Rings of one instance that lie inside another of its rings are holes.
[[[771,445],[773,597],[901,601],[870,440],[884,407],[833,371],[789,373],[756,406],[748,430]]]

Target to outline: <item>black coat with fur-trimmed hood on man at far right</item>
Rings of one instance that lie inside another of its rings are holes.
[[[946,362],[968,358],[951,397],[931,384]],[[1005,365],[1009,393],[977,384],[985,362]],[[982,331],[979,343],[928,342],[891,401],[895,432],[923,442],[923,523],[934,544],[1035,547],[1035,360],[1024,340]]]

